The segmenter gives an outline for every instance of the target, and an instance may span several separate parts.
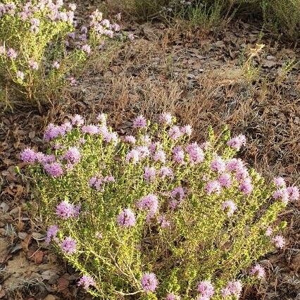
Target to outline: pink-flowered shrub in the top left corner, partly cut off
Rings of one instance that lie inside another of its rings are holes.
[[[104,39],[120,35],[120,26],[91,15],[89,28],[75,31],[75,4],[63,0],[4,0],[0,4],[0,83],[13,86],[30,101],[51,100],[72,72]],[[44,99],[46,97],[46,99]]]

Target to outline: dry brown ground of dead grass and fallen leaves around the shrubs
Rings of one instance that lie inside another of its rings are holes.
[[[0,121],[0,299],[85,299],[75,286],[77,275],[43,244],[44,227],[29,182],[15,174],[23,168],[18,153],[43,147],[42,130],[73,113],[110,116],[120,134],[143,113],[156,118],[170,111],[191,123],[203,140],[208,125],[244,132],[248,144],[241,157],[265,177],[284,175],[300,184],[299,49],[274,42],[255,27],[235,23],[219,32],[130,25],[135,42],[114,51],[108,64],[95,61],[65,101],[41,115],[30,107],[1,114]],[[243,63],[250,49],[265,44],[253,65]],[[294,63],[293,63],[294,62]],[[292,63],[294,68],[287,68]],[[244,299],[300,299],[300,213],[292,204],[280,218],[288,221],[287,246],[261,263],[268,279],[246,290]],[[47,298],[48,297],[48,298]],[[88,298],[86,298],[88,299]]]

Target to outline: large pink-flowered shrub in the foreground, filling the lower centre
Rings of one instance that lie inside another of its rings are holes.
[[[101,114],[44,133],[49,152],[24,149],[51,243],[101,299],[239,299],[265,277],[258,258],[285,239],[278,213],[299,198],[282,177],[270,185],[235,154],[244,135],[190,140],[163,113],[142,115],[118,137]],[[131,299],[131,298],[130,298]]]

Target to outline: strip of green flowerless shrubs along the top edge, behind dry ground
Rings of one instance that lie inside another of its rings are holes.
[[[138,18],[181,20],[205,30],[222,26],[234,16],[252,16],[276,35],[299,37],[300,0],[112,0],[109,5]]]

